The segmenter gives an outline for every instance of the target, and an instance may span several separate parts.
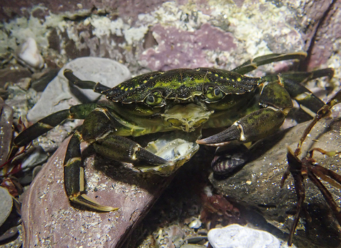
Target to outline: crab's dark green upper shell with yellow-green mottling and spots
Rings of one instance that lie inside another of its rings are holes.
[[[221,69],[172,69],[167,72],[150,72],[129,79],[105,92],[114,102],[142,102],[153,91],[163,98],[186,101],[205,94],[210,86],[219,87],[224,94],[244,94],[252,91],[261,78],[246,77]]]

